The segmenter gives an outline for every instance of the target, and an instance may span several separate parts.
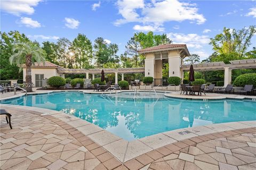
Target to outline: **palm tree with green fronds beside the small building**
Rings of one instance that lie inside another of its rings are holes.
[[[37,63],[43,62],[45,64],[45,52],[35,43],[17,43],[13,47],[13,53],[10,57],[10,63],[17,64],[22,70],[22,65],[26,65],[26,90],[32,92],[32,77],[31,77],[31,65],[34,61]]]

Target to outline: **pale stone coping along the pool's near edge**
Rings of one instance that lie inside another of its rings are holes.
[[[120,162],[125,163],[140,155],[146,154],[149,151],[170,145],[171,143],[182,141],[185,139],[199,137],[200,135],[207,135],[230,130],[239,130],[245,128],[255,128],[256,121],[243,121],[243,122],[229,122],[219,123],[204,126],[196,126],[194,128],[183,128],[163,133],[158,133],[137,139],[134,141],[126,141],[117,137],[115,134],[108,132],[99,126],[82,120],[81,118],[69,115],[60,111],[53,111],[51,109],[0,104],[0,106],[26,109],[28,111],[36,111],[42,113],[41,115],[51,115],[59,120],[71,125],[73,128],[79,130],[81,133],[89,137],[99,146],[105,148]]]

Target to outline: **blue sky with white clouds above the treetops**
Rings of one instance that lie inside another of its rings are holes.
[[[212,54],[210,38],[223,27],[242,29],[256,24],[256,1],[42,1],[1,0],[1,31],[18,30],[32,40],[73,40],[84,33],[116,43],[125,51],[135,32],[166,33],[186,43],[201,60]],[[252,39],[256,46],[256,36]]]

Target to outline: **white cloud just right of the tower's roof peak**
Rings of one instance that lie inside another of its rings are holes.
[[[182,42],[185,44],[189,44],[190,47],[194,46],[196,48],[202,47],[202,45],[206,45],[210,43],[209,36],[199,36],[196,33],[189,33],[189,34],[184,34],[184,33],[167,33],[167,37],[170,38],[171,40],[175,42]],[[200,45],[200,46],[199,46]]]

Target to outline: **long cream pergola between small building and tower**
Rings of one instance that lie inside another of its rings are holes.
[[[144,73],[144,67],[134,67],[134,68],[118,68],[118,69],[65,69],[58,68],[58,73],[62,74],[86,74],[86,79],[89,79],[89,74],[92,74],[92,80],[95,74],[100,74],[101,71],[105,73],[115,73],[115,83],[118,82],[118,73],[122,74],[122,80],[124,80],[124,74],[126,73]]]

